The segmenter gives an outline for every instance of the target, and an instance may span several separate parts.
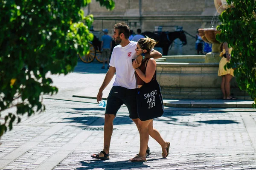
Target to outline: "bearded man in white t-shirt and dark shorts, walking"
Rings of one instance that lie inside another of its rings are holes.
[[[102,100],[103,90],[107,87],[109,82],[116,73],[116,78],[113,83],[113,87],[108,95],[108,102],[105,112],[105,124],[104,124],[104,147],[98,154],[91,155],[95,159],[109,159],[109,146],[111,136],[113,133],[113,120],[116,117],[116,113],[125,104],[129,111],[129,117],[134,121],[138,127],[138,114],[137,114],[137,82],[134,74],[134,68],[132,67],[132,59],[136,58],[136,45],[137,42],[129,41],[130,30],[125,23],[117,23],[114,26],[113,38],[117,45],[112,52],[110,60],[110,68],[105,76],[102,86],[99,89],[97,95],[97,102]],[[162,57],[162,54],[158,51],[151,51],[150,54],[145,54],[145,58],[154,59]],[[149,134],[155,138],[154,133]],[[146,151],[146,156],[150,155],[149,148]]]

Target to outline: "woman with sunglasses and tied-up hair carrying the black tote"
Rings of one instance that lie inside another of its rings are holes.
[[[137,58],[133,61],[132,66],[135,69],[135,74],[137,77],[137,85],[139,88],[143,87],[145,83],[149,83],[154,80],[156,77],[155,71],[157,68],[157,63],[154,58],[143,59],[142,54],[150,53],[156,44],[155,40],[151,38],[142,38],[138,41],[135,48]],[[138,101],[137,101],[138,102]],[[138,107],[138,106],[137,106]],[[148,107],[148,106],[147,106]],[[162,156],[166,158],[169,155],[170,142],[163,140],[160,133],[153,127],[153,119],[148,117],[148,112],[143,108],[143,114],[146,114],[147,119],[142,121],[139,119],[139,132],[140,132],[140,153],[134,158],[130,159],[132,162],[147,161],[145,151],[148,146],[148,134],[154,134],[154,139],[162,147]],[[158,109],[157,109],[158,110]],[[160,111],[159,111],[160,112]],[[154,115],[157,115],[154,114]]]

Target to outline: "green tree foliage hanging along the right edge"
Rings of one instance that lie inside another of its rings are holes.
[[[227,0],[231,2],[235,7],[219,16],[221,34],[216,38],[233,48],[227,68],[237,68],[234,75],[239,88],[256,102],[256,0]]]

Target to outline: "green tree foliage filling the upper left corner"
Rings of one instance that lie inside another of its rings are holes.
[[[108,10],[113,0],[96,0]],[[90,0],[0,0],[0,136],[19,115],[44,111],[43,94],[55,94],[46,74],[68,74],[77,54],[87,54],[93,16],[81,10]],[[1,115],[0,115],[1,117]]]

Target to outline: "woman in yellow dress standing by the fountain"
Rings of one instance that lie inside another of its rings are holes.
[[[228,48],[227,42],[222,42],[220,45],[221,61],[219,62],[218,76],[222,77],[221,80],[221,91],[223,93],[223,99],[234,100],[237,99],[230,94],[230,81],[234,77],[234,69],[224,69],[224,65],[230,61],[232,48]]]

